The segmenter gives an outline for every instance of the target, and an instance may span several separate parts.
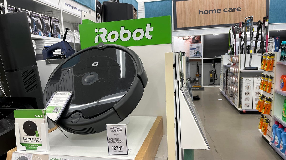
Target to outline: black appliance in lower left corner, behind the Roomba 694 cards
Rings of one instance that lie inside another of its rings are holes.
[[[37,107],[34,98],[1,97],[0,98],[0,156],[16,147],[15,139],[15,109],[32,109]],[[4,145],[5,144],[5,145]]]

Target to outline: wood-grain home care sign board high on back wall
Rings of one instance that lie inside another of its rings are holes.
[[[174,0],[175,30],[227,26],[252,15],[254,22],[263,20],[265,0]]]

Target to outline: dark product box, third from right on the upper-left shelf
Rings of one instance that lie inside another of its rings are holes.
[[[31,12],[30,21],[31,21],[31,31],[32,34],[42,36],[42,27],[41,27],[41,17],[39,13]]]

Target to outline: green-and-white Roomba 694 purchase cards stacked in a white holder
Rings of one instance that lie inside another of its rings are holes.
[[[30,150],[37,150],[37,147],[42,146],[41,124],[47,123],[46,111],[17,109],[14,110],[14,117],[19,126],[19,134],[16,133],[16,136],[20,136],[20,144]]]

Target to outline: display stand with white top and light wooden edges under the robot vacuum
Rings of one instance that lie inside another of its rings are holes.
[[[162,116],[130,117],[130,123],[127,125],[127,144],[131,151],[127,157],[108,155],[106,131],[92,135],[65,133],[69,139],[64,138],[61,132],[54,127],[49,130],[51,146],[49,151],[17,151],[17,147],[15,147],[8,151],[7,160],[12,159],[13,153],[59,155],[60,157],[78,157],[80,159],[154,160],[163,136],[163,120]]]

